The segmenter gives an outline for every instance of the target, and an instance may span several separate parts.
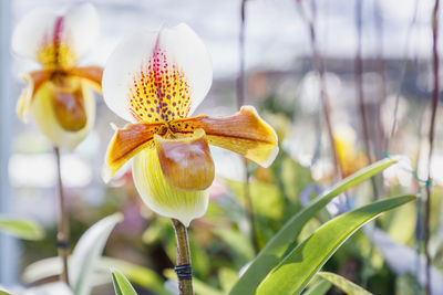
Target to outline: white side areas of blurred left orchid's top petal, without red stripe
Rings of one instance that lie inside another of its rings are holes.
[[[38,50],[53,40],[58,19],[63,17],[61,38],[79,59],[92,46],[99,34],[99,17],[89,4],[70,8],[65,13],[50,9],[35,9],[16,27],[12,34],[12,50],[17,54],[37,59]]]

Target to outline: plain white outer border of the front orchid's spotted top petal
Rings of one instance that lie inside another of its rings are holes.
[[[104,99],[115,114],[126,120],[140,120],[131,113],[131,91],[136,77],[152,62],[156,49],[164,53],[166,65],[178,69],[188,84],[190,112],[187,115],[192,114],[209,91],[213,81],[209,54],[189,27],[179,24],[174,28],[163,27],[159,32],[138,32],[117,46],[103,73]]]

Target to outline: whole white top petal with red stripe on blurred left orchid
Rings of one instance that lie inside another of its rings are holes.
[[[14,53],[45,67],[71,67],[91,48],[99,33],[99,18],[91,4],[58,13],[38,9],[27,14],[12,34]]]

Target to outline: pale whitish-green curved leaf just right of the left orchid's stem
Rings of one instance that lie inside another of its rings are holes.
[[[123,220],[121,213],[109,215],[92,225],[79,240],[70,260],[70,282],[75,295],[91,293],[92,274],[114,226]]]

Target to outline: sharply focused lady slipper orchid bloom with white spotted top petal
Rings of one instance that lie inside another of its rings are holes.
[[[141,32],[111,55],[103,73],[107,106],[131,122],[116,129],[103,170],[112,176],[131,158],[147,206],[186,226],[206,212],[214,180],[209,146],[269,166],[277,136],[251,106],[229,117],[192,116],[213,80],[208,52],[186,24]]]

